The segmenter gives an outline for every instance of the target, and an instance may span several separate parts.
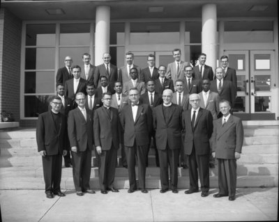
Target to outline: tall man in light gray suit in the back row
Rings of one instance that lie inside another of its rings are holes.
[[[181,61],[181,50],[174,49],[172,50],[172,56],[174,56],[174,62],[167,64],[167,79],[172,79],[172,81],[176,81],[176,79],[184,78],[184,68],[187,65],[190,65],[188,62]]]

